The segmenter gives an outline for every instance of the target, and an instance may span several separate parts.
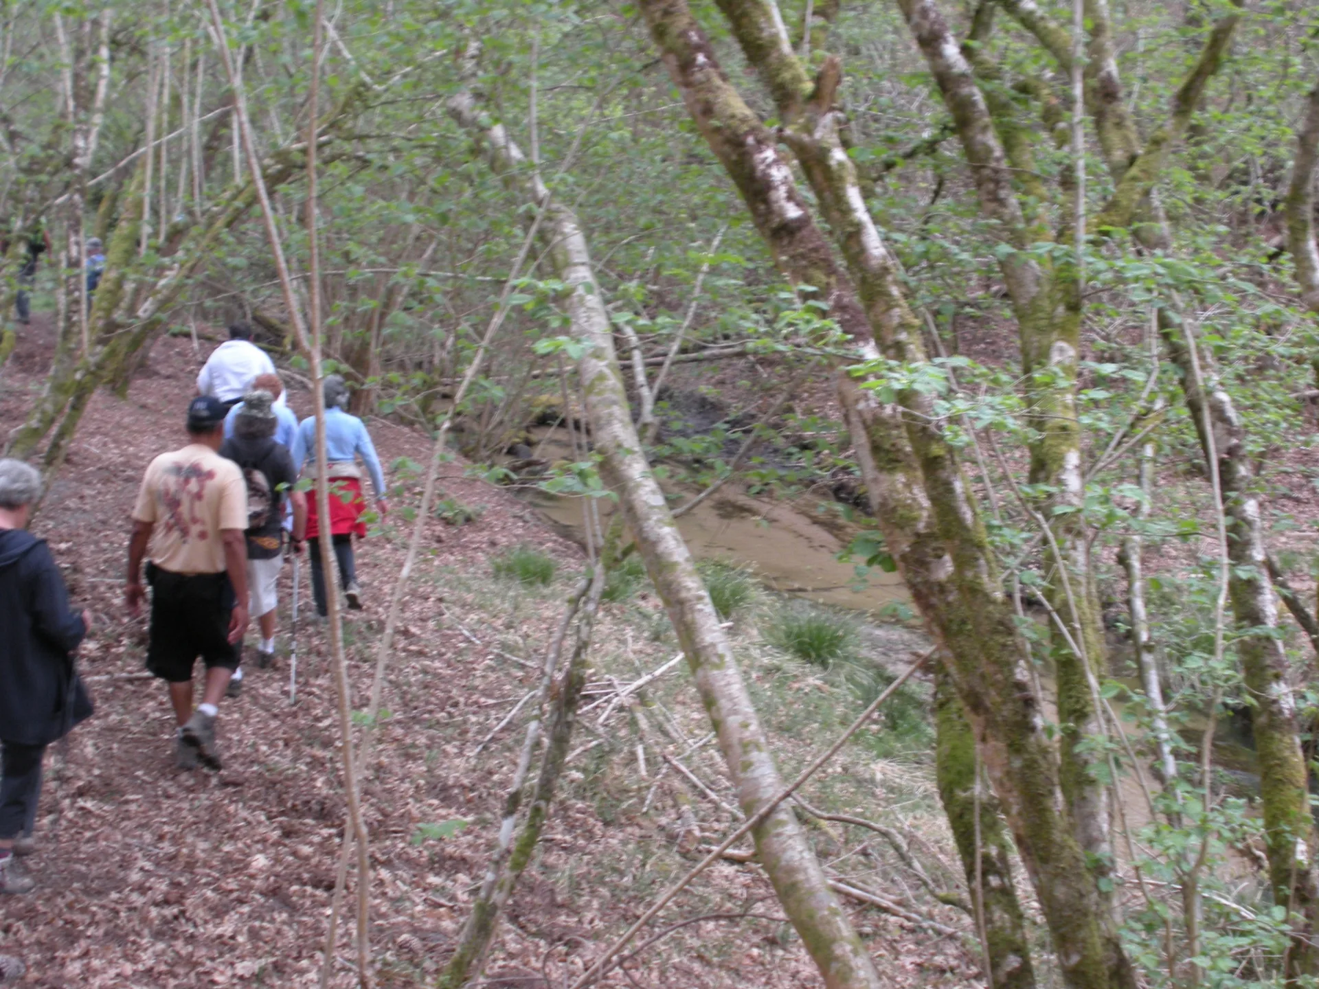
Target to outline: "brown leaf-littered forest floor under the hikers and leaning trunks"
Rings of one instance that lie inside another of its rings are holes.
[[[200,356],[211,345],[203,343]],[[276,667],[248,670],[243,696],[222,707],[224,770],[179,773],[165,690],[140,676],[144,622],[131,621],[121,607],[137,484],[152,456],[185,442],[183,410],[198,357],[187,338],[166,338],[127,400],[96,396],[34,525],[74,601],[96,617],[79,657],[96,713],[47,754],[41,851],[28,860],[37,891],[0,902],[0,952],[28,963],[24,985],[182,989],[319,980],[344,816],[335,694],[321,629],[305,620],[298,632],[297,704],[289,705],[284,617]],[[3,427],[21,422],[49,359],[49,324],[38,319],[0,380]],[[293,386],[290,402],[306,413],[309,396]],[[386,471],[400,458],[423,463],[429,455],[429,440],[415,431],[380,419],[369,426]],[[472,508],[476,518],[458,527],[427,524],[427,551],[390,657],[388,717],[373,729],[364,783],[371,942],[383,986],[429,984],[452,948],[492,848],[521,717],[479,756],[476,749],[534,686],[533,663],[583,567],[580,550],[509,492],[464,476],[460,462],[442,475],[441,496]],[[364,612],[348,613],[346,626],[356,708],[365,707],[373,645],[406,550],[402,509],[419,498],[415,481],[400,487],[393,521],[359,550],[368,603]],[[492,555],[517,545],[549,553],[558,563],[555,582],[525,588],[496,579]],[[290,570],[282,580],[284,616]],[[303,617],[309,599],[305,583]],[[863,702],[764,642],[758,622],[777,600],[761,592],[737,614],[735,637],[790,775]],[[922,642],[902,626],[881,625],[867,628],[863,641],[867,657],[894,670]],[[675,653],[667,618],[642,585],[604,608],[591,679],[609,690]],[[603,721],[601,711],[582,719],[561,799],[481,985],[566,985],[690,868],[700,845],[736,824],[735,800],[685,667],[657,680],[638,704],[620,705]],[[881,723],[863,733],[810,785],[807,799],[897,828],[934,885],[955,890],[960,870],[938,810],[931,742],[921,731]],[[670,770],[666,756],[681,757],[700,785]],[[446,823],[460,829],[441,839],[425,827]],[[886,986],[979,984],[964,913],[936,903],[877,835],[823,823],[813,833],[835,874],[955,930],[942,934],[848,902]],[[352,884],[350,877],[350,897]],[[652,934],[710,914],[719,918],[675,928],[604,985],[819,984],[754,864],[712,866]],[[340,924],[335,986],[355,985],[351,928],[350,916]]]

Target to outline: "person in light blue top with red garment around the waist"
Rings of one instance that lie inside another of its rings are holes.
[[[330,480],[330,520],[326,525],[318,518],[317,498],[309,492],[307,498],[307,550],[311,554],[311,592],[317,599],[317,613],[324,617],[330,613],[326,603],[326,582],[321,568],[321,535],[328,529],[334,542],[334,555],[339,563],[339,585],[350,608],[361,608],[361,588],[357,585],[357,571],[352,556],[352,537],[367,535],[367,524],[361,513],[367,510],[367,500],[361,493],[361,469],[356,458],[367,465],[371,487],[376,492],[376,512],[384,517],[385,475],[380,469],[376,446],[371,442],[367,425],[356,415],[347,413],[348,385],[339,375],[330,375],[323,384],[326,400],[326,477]],[[307,467],[305,476],[315,477],[317,421],[307,417],[298,426],[302,450]],[[301,463],[301,462],[299,462]]]

